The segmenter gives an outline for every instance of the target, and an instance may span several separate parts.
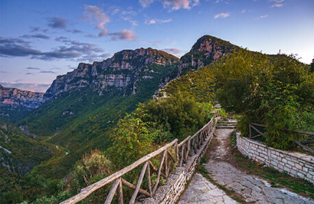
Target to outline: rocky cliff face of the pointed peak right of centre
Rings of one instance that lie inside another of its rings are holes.
[[[231,53],[236,47],[236,45],[230,42],[213,36],[202,36],[193,45],[191,51],[180,59],[178,76],[188,71],[197,70],[202,66],[207,66],[221,56]]]

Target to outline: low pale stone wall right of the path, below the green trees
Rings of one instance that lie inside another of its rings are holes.
[[[243,155],[293,177],[306,179],[314,184],[314,157],[298,152],[282,151],[237,134],[237,147]]]

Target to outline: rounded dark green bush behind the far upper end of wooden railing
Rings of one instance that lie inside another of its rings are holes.
[[[165,99],[151,100],[142,105],[143,114],[138,114],[143,121],[157,124],[167,134],[171,141],[175,138],[182,140],[202,128],[209,119],[212,105],[197,103],[195,99],[184,97],[180,92]]]

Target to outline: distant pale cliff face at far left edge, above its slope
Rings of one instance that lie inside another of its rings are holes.
[[[44,93],[4,88],[0,85],[0,105],[12,109],[22,106],[32,110],[43,103],[43,95]]]

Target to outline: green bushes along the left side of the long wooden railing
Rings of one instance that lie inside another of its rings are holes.
[[[58,191],[53,192],[53,196],[37,199],[36,202],[43,199],[60,202],[58,198],[62,197],[61,195],[69,197],[77,194],[80,189],[132,164],[158,149],[165,142],[173,140],[175,136],[183,139],[188,136],[188,133],[195,133],[208,122],[210,110],[208,104],[197,103],[194,99],[185,98],[180,93],[166,99],[140,104],[132,114],[127,114],[120,119],[116,127],[110,131],[110,148],[106,151],[96,149],[89,154],[84,154],[82,160],[75,164],[74,170],[67,175],[67,182],[62,184],[63,190],[58,188]],[[158,112],[160,113],[156,114]],[[158,155],[151,162],[158,166],[160,156]],[[136,183],[140,172],[141,166],[124,175],[123,178],[130,183]],[[152,183],[156,183],[155,174],[152,175]],[[161,180],[160,183],[165,183],[165,180]],[[143,186],[145,185],[147,184],[144,180]],[[109,190],[109,185],[101,188],[88,196],[85,202],[103,201]],[[128,198],[132,195],[132,190],[125,189],[123,194]]]

